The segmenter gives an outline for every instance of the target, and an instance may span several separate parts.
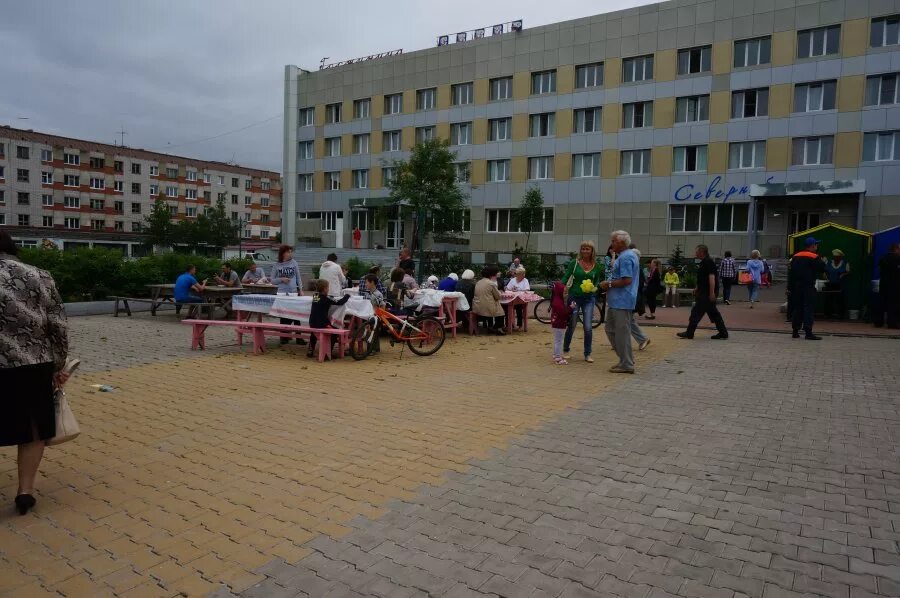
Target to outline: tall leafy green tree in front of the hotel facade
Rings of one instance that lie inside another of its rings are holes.
[[[459,232],[466,209],[466,193],[456,180],[456,152],[446,139],[417,143],[408,160],[395,160],[396,176],[388,183],[389,202],[401,218],[413,218],[413,251],[420,252],[421,239],[429,234]]]

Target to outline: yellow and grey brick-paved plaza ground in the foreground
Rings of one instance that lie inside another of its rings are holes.
[[[323,364],[70,324],[83,433],[26,517],[3,449],[3,596],[900,595],[894,339],[648,327],[616,376],[537,324]]]

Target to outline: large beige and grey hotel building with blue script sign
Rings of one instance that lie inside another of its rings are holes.
[[[397,246],[390,161],[450,140],[473,252],[786,252],[821,222],[900,224],[900,2],[675,0],[319,71],[285,71],[286,238]],[[408,223],[407,223],[408,224]],[[336,232],[335,229],[338,230]],[[371,230],[380,228],[382,230]],[[535,241],[537,239],[537,241]]]

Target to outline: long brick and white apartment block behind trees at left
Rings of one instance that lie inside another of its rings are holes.
[[[23,245],[50,239],[131,254],[157,199],[180,220],[219,197],[244,239],[280,233],[277,172],[0,127],[0,225]]]

